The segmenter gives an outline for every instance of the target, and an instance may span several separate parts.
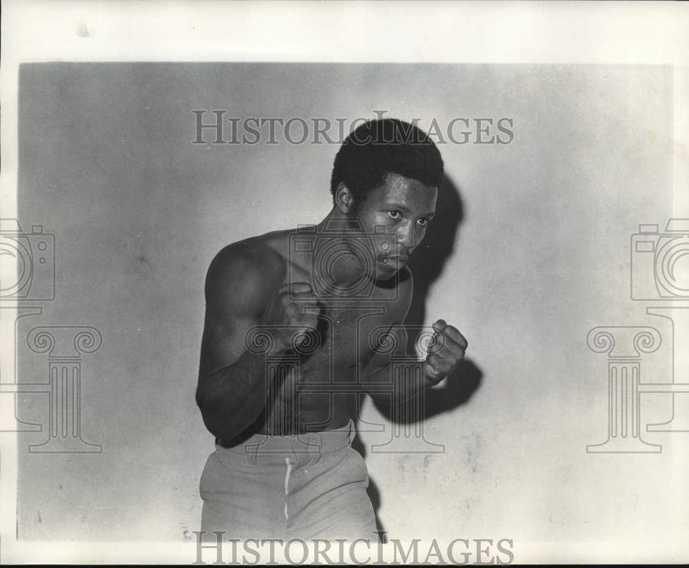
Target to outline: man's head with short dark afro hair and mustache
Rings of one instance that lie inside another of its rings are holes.
[[[369,121],[342,143],[331,178],[335,207],[364,232],[382,226],[395,235],[395,250],[376,255],[378,276],[399,270],[424,238],[442,177],[440,151],[412,124]]]

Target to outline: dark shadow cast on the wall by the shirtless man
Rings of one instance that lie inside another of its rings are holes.
[[[409,267],[414,275],[414,296],[409,309],[409,315],[404,322],[408,327],[415,328],[424,324],[426,301],[429,292],[433,283],[442,274],[446,261],[455,250],[457,234],[464,219],[465,211],[462,206],[462,199],[460,199],[460,192],[451,179],[446,176],[438,190],[435,219],[429,225],[424,241],[409,259]],[[449,298],[449,301],[455,301],[455,298]],[[453,322],[449,323],[453,324]],[[407,344],[408,353],[414,352],[417,337],[418,333],[413,333],[410,329],[409,343]],[[480,386],[482,376],[481,369],[471,359],[464,358],[460,365],[457,366],[457,369],[448,376],[444,387],[426,391],[424,414],[421,419],[449,412],[466,403]],[[356,398],[359,398],[358,408],[354,409],[351,416],[358,417],[362,397]],[[376,408],[388,420],[393,420],[395,423],[410,423],[418,422],[419,420],[418,417],[409,416],[409,414],[404,412],[394,412],[391,407],[384,405],[376,405]],[[360,452],[364,458],[366,457],[366,447],[358,436],[352,441],[352,447]],[[373,503],[373,509],[376,511],[378,531],[380,531],[382,540],[387,542],[387,535],[384,534],[384,527],[378,516],[382,503],[380,491],[371,478],[369,478],[367,491],[371,503]]]

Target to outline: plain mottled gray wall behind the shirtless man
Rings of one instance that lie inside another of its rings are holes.
[[[655,434],[660,456],[585,451],[607,423],[605,357],[588,330],[668,331],[629,299],[628,243],[638,223],[672,213],[670,68],[36,63],[19,85],[20,221],[56,235],[56,299],[19,325],[19,381],[45,381],[45,355],[25,347],[31,327],[103,334],[82,392],[83,436],[103,453],[30,454],[44,434],[20,436],[20,539],[180,540],[198,528],[213,449],[194,403],[209,261],[329,211],[337,145],[192,145],[194,109],[333,121],[387,110],[422,128],[513,119],[511,144],[440,145],[463,218],[425,321],[464,333],[480,384],[426,422],[444,454],[367,452],[382,525],[516,549],[686,528],[666,508],[676,438]],[[644,361],[649,380],[667,378],[666,345]],[[645,420],[669,418],[667,397],[648,398]],[[19,401],[21,418],[45,422],[47,398]],[[370,401],[363,412],[381,418]]]

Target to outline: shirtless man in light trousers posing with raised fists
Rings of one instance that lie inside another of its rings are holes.
[[[366,466],[350,446],[352,402],[363,392],[384,405],[417,396],[466,350],[439,319],[420,381],[393,383],[391,350],[379,348],[406,348],[406,264],[442,176],[424,132],[370,121],[338,151],[321,223],[245,239],[214,258],[196,391],[216,436],[200,480],[202,531],[375,540]]]

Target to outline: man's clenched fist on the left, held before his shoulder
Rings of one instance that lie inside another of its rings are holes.
[[[307,341],[307,332],[318,327],[319,314],[318,298],[313,294],[311,285],[307,282],[291,282],[282,285],[276,292],[263,323],[276,349],[285,351]],[[293,343],[296,335],[299,337]]]

